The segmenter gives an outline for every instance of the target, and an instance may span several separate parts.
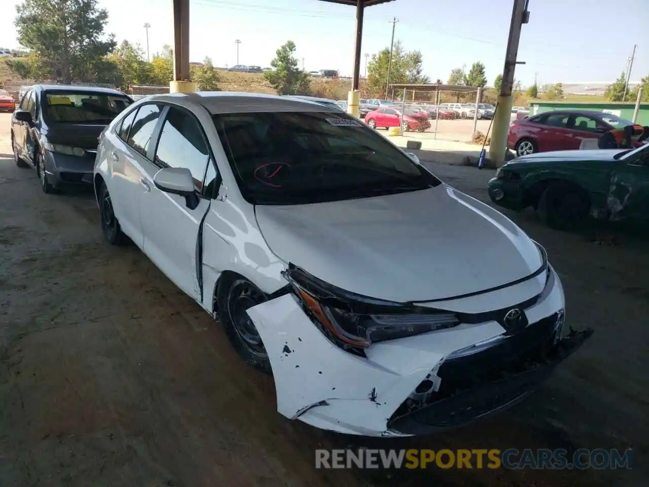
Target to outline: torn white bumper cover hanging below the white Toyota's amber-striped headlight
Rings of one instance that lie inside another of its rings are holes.
[[[462,324],[374,343],[362,358],[330,342],[292,294],[254,306],[248,314],[271,361],[278,412],[322,429],[366,436],[398,435],[387,431],[388,419],[447,355],[504,332],[495,321]]]

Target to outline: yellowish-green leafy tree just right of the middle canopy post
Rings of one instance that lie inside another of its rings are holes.
[[[372,96],[383,97],[387,86],[387,66],[390,60],[390,49],[384,47],[367,64],[367,90]],[[391,84],[413,83],[421,84],[430,81],[422,73],[421,51],[406,52],[400,41],[395,42],[392,49],[390,64]]]

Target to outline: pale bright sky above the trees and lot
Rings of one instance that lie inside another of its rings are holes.
[[[530,23],[523,26],[517,79],[539,83],[606,82],[626,68],[633,44],[637,53],[631,81],[649,75],[649,8],[611,0],[530,0]],[[8,2],[7,2],[8,3]],[[173,45],[171,0],[100,0],[108,8],[108,32],[117,40],[146,45],[143,23],[151,24],[149,49]],[[395,39],[407,50],[419,49],[424,73],[432,81],[447,81],[453,68],[482,61],[489,84],[502,72],[513,0],[396,0],[365,10],[364,53],[389,45],[391,23],[397,17]],[[624,7],[622,8],[622,5]],[[624,10],[624,14],[619,14]],[[14,14],[15,10],[9,12]],[[353,7],[319,0],[191,0],[190,55],[210,56],[216,66],[239,62],[268,66],[286,40],[297,45],[304,68],[352,71]],[[0,45],[16,47],[12,16],[0,19]],[[365,58],[361,63],[361,74]]]

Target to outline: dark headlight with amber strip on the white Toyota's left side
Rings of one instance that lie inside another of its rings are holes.
[[[452,312],[364,299],[324,282],[315,283],[315,278],[301,269],[289,270],[284,277],[291,282],[313,323],[343,349],[367,348],[371,343],[459,325],[458,316]]]

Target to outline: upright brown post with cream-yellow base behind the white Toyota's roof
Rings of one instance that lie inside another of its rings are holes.
[[[173,81],[169,92],[195,91],[190,76],[190,0],[173,0]]]

